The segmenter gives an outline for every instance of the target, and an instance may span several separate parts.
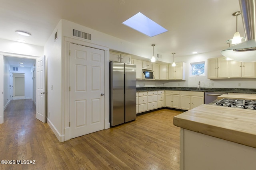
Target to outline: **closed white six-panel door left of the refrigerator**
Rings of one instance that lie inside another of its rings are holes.
[[[70,44],[70,139],[104,129],[104,51]]]

